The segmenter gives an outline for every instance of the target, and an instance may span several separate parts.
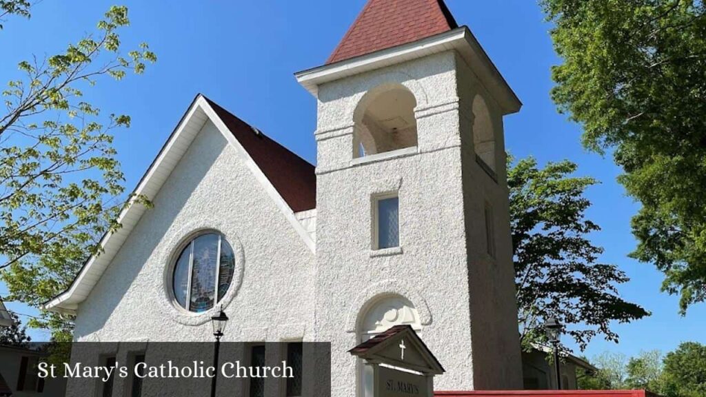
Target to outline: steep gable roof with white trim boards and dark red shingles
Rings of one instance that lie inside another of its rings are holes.
[[[228,143],[244,158],[255,179],[280,208],[302,241],[314,251],[314,242],[294,212],[316,206],[316,176],[313,165],[284,146],[264,136],[259,130],[223,109],[205,96],[196,95],[177,128],[164,143],[157,158],[140,179],[134,196],[154,198],[164,182],[189,149],[206,122],[212,122]],[[121,227],[100,240],[102,254],[91,256],[76,275],[68,290],[44,304],[45,309],[73,313],[100,280],[122,244],[138,224],[147,208],[133,201],[120,213]]]

